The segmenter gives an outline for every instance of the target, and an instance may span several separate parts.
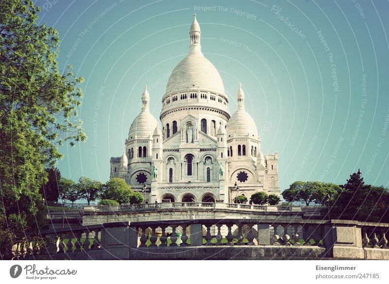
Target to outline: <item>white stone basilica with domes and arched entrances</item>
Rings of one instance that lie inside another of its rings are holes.
[[[233,202],[237,195],[249,200],[258,191],[279,196],[278,152],[262,153],[240,84],[237,110],[230,116],[219,72],[201,52],[196,17],[189,35],[189,53],[173,70],[162,97],[161,127],[150,114],[145,87],[126,151],[111,157],[110,177],[145,191],[148,202]]]

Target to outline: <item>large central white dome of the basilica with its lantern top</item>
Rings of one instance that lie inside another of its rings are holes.
[[[195,88],[225,95],[219,72],[201,52],[201,32],[196,18],[191,25],[189,34],[191,38],[189,53],[178,63],[170,75],[166,94]]]

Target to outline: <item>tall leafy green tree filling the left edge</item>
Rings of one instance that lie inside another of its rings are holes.
[[[0,1],[0,257],[7,259],[25,232],[45,225],[45,168],[62,155],[59,145],[85,140],[75,120],[82,79],[59,72],[59,38],[38,25],[31,0]]]

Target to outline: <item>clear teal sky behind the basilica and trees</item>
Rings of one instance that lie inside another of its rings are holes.
[[[62,176],[106,182],[148,85],[159,120],[196,10],[204,55],[236,110],[239,82],[281,190],[297,180],[388,186],[389,2],[381,0],[39,1],[60,35],[59,67],[82,76],[86,143],[63,147]]]

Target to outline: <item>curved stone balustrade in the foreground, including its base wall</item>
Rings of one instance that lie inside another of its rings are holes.
[[[17,259],[387,259],[389,224],[348,220],[193,219],[41,231]]]

